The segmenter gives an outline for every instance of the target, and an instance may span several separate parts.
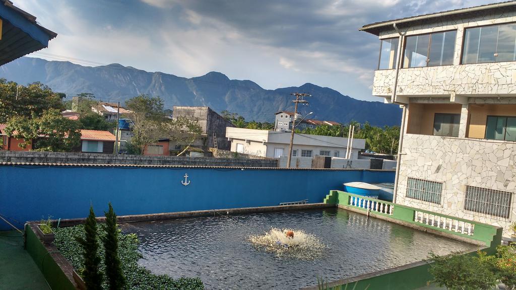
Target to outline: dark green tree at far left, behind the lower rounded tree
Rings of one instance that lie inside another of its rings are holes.
[[[49,109],[63,110],[63,93],[53,92],[41,83],[21,86],[0,78],[0,123],[14,116],[39,117]]]

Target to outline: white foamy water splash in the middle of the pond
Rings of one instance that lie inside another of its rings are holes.
[[[294,237],[287,237],[293,231]],[[303,230],[272,228],[263,235],[251,235],[249,241],[257,250],[275,253],[278,257],[293,257],[301,260],[315,260],[326,249],[319,238]]]

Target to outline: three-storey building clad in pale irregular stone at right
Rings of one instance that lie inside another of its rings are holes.
[[[504,2],[360,29],[380,38],[373,95],[404,108],[396,203],[512,234],[515,22],[516,3]]]

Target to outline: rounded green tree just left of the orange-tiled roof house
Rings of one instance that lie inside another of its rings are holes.
[[[43,115],[33,113],[30,118],[15,116],[7,122],[9,136],[23,139],[20,147],[33,144],[34,151],[70,152],[80,144],[79,123],[61,116],[57,109],[49,109]]]

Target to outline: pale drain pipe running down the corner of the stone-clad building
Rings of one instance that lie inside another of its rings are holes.
[[[396,26],[396,23],[393,24],[394,29],[399,35],[399,41],[398,41],[398,55],[396,56],[396,70],[394,72],[394,84],[392,88],[392,95],[391,95],[391,102],[396,104],[396,88],[398,86],[398,74],[399,74],[399,67],[401,65],[401,56],[403,55],[402,49],[402,42],[404,40],[403,36],[405,33],[402,33],[398,27]],[[398,103],[399,104],[399,103]],[[401,148],[403,146],[403,132],[405,130],[405,115],[407,113],[407,106],[406,104],[400,104],[403,108],[402,116],[401,116],[401,127],[399,128],[399,142],[398,142],[398,156],[396,158],[396,174],[394,178],[394,195],[392,202],[396,203],[396,196],[398,195],[398,182],[399,182],[399,165],[401,163]]]

